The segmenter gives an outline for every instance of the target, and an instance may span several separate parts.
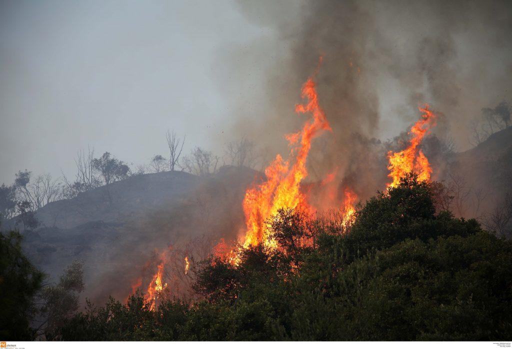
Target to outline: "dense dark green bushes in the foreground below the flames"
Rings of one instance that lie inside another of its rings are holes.
[[[199,267],[193,304],[155,311],[89,304],[65,340],[503,340],[512,336],[512,244],[475,220],[435,212],[414,175],[379,192],[344,235],[287,209],[269,222],[280,251],[244,250]],[[330,225],[331,227],[333,225]],[[302,240],[301,240],[302,239]]]

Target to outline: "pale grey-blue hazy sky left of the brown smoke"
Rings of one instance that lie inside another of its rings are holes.
[[[2,2],[0,184],[25,168],[73,177],[88,145],[147,163],[167,128],[218,146],[219,57],[263,34],[228,1]]]

